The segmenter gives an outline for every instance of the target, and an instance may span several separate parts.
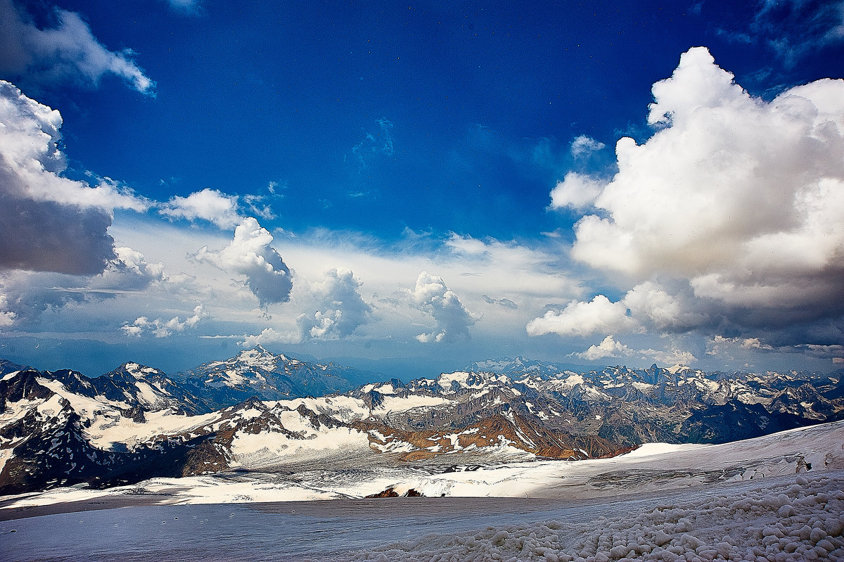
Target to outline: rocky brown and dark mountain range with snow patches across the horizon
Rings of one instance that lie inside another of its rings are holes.
[[[0,359],[0,494],[229,470],[384,464],[453,470],[723,443],[844,418],[842,372],[575,372],[495,359],[378,381],[261,347],[168,376],[89,378]]]

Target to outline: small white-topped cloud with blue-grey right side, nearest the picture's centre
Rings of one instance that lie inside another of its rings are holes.
[[[441,277],[426,271],[419,273],[414,289],[406,290],[406,294],[419,310],[428,313],[436,322],[432,332],[416,336],[419,342],[446,343],[469,338],[469,327],[479,319],[463,306]]]

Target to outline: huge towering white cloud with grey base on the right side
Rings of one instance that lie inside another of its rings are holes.
[[[641,145],[619,140],[611,181],[566,178],[552,193],[552,206],[598,209],[576,223],[572,256],[638,283],[614,303],[617,317],[678,331],[778,331],[783,344],[840,337],[844,80],[760,100],[697,47],[653,95],[656,132]],[[571,333],[584,305],[528,331]]]

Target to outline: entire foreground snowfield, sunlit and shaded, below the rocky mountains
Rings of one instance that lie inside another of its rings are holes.
[[[3,559],[844,560],[844,422],[594,461],[364,459],[7,496]],[[387,488],[437,497],[360,499]]]

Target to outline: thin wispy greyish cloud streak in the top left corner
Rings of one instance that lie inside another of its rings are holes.
[[[97,86],[114,74],[143,94],[155,83],[132,60],[134,52],[109,51],[75,12],[53,8],[50,25],[39,28],[24,6],[0,0],[0,73],[28,84],[75,82]]]

